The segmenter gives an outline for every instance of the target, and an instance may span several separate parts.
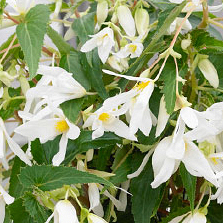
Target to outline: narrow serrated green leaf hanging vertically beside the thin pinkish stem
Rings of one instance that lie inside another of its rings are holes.
[[[168,61],[162,72],[162,78],[164,80],[162,93],[164,93],[167,113],[171,114],[176,102],[176,67],[172,58]]]

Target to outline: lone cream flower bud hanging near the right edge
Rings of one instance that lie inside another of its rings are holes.
[[[201,59],[198,62],[198,67],[203,73],[204,77],[209,81],[210,85],[217,88],[219,85],[219,78],[217,70],[208,59]]]

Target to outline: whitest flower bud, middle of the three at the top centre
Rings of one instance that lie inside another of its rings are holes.
[[[135,36],[135,21],[130,9],[126,5],[121,5],[117,9],[118,21],[126,34],[130,37]]]

